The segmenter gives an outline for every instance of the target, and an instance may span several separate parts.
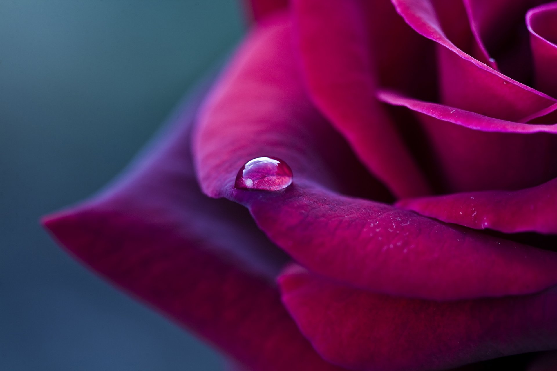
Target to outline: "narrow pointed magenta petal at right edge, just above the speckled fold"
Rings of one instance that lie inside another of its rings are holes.
[[[557,179],[519,191],[483,191],[399,201],[444,222],[503,233],[557,234]]]

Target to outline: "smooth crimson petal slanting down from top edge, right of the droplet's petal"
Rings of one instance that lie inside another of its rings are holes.
[[[292,6],[296,46],[316,106],[393,194],[428,194],[427,181],[375,100],[376,81],[361,3],[296,0]]]

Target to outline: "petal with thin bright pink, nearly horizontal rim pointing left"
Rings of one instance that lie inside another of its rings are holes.
[[[557,176],[557,162],[548,161],[557,154],[557,125],[499,120],[389,91],[378,98],[423,114],[445,191],[516,190]]]

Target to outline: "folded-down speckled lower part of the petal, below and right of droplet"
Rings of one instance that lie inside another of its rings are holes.
[[[281,192],[238,191],[234,197],[301,265],[377,293],[457,300],[529,294],[557,284],[557,253],[303,180]]]

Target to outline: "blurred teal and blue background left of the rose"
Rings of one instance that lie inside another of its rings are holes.
[[[221,370],[38,217],[128,163],[243,33],[235,0],[0,0],[0,370]]]

